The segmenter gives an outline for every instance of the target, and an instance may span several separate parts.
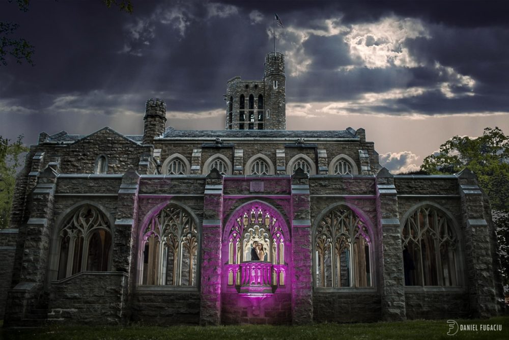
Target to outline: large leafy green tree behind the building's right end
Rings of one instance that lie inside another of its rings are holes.
[[[455,174],[468,167],[487,193],[493,209],[502,279],[509,290],[509,136],[498,127],[486,128],[478,138],[454,136],[426,157],[421,170],[429,174]]]

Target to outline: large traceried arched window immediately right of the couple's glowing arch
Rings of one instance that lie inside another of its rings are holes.
[[[316,287],[371,287],[372,237],[349,207],[338,206],[320,220],[314,235]]]

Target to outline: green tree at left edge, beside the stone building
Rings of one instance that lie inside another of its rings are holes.
[[[23,136],[14,143],[0,136],[0,229],[9,226],[16,169],[23,163],[23,153],[29,149],[22,144]]]

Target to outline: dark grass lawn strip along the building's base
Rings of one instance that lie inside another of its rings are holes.
[[[459,330],[447,335],[445,320],[379,322],[365,324],[322,323],[307,326],[48,326],[0,329],[0,339],[509,339],[509,317],[489,320],[456,320],[477,325],[477,331]],[[501,331],[481,330],[481,325],[501,325]]]

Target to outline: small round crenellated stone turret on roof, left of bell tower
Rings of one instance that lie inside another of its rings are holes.
[[[154,137],[162,135],[166,128],[166,103],[164,100],[157,98],[147,100],[143,122],[143,144],[153,144]]]

